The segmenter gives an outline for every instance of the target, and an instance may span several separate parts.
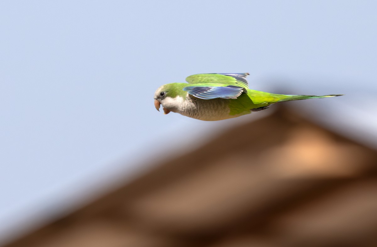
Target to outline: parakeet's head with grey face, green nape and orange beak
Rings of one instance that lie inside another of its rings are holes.
[[[159,111],[160,105],[164,114],[170,113],[170,111],[177,112],[179,103],[182,102],[187,92],[182,88],[187,83],[170,83],[160,86],[155,92],[155,107]]]

